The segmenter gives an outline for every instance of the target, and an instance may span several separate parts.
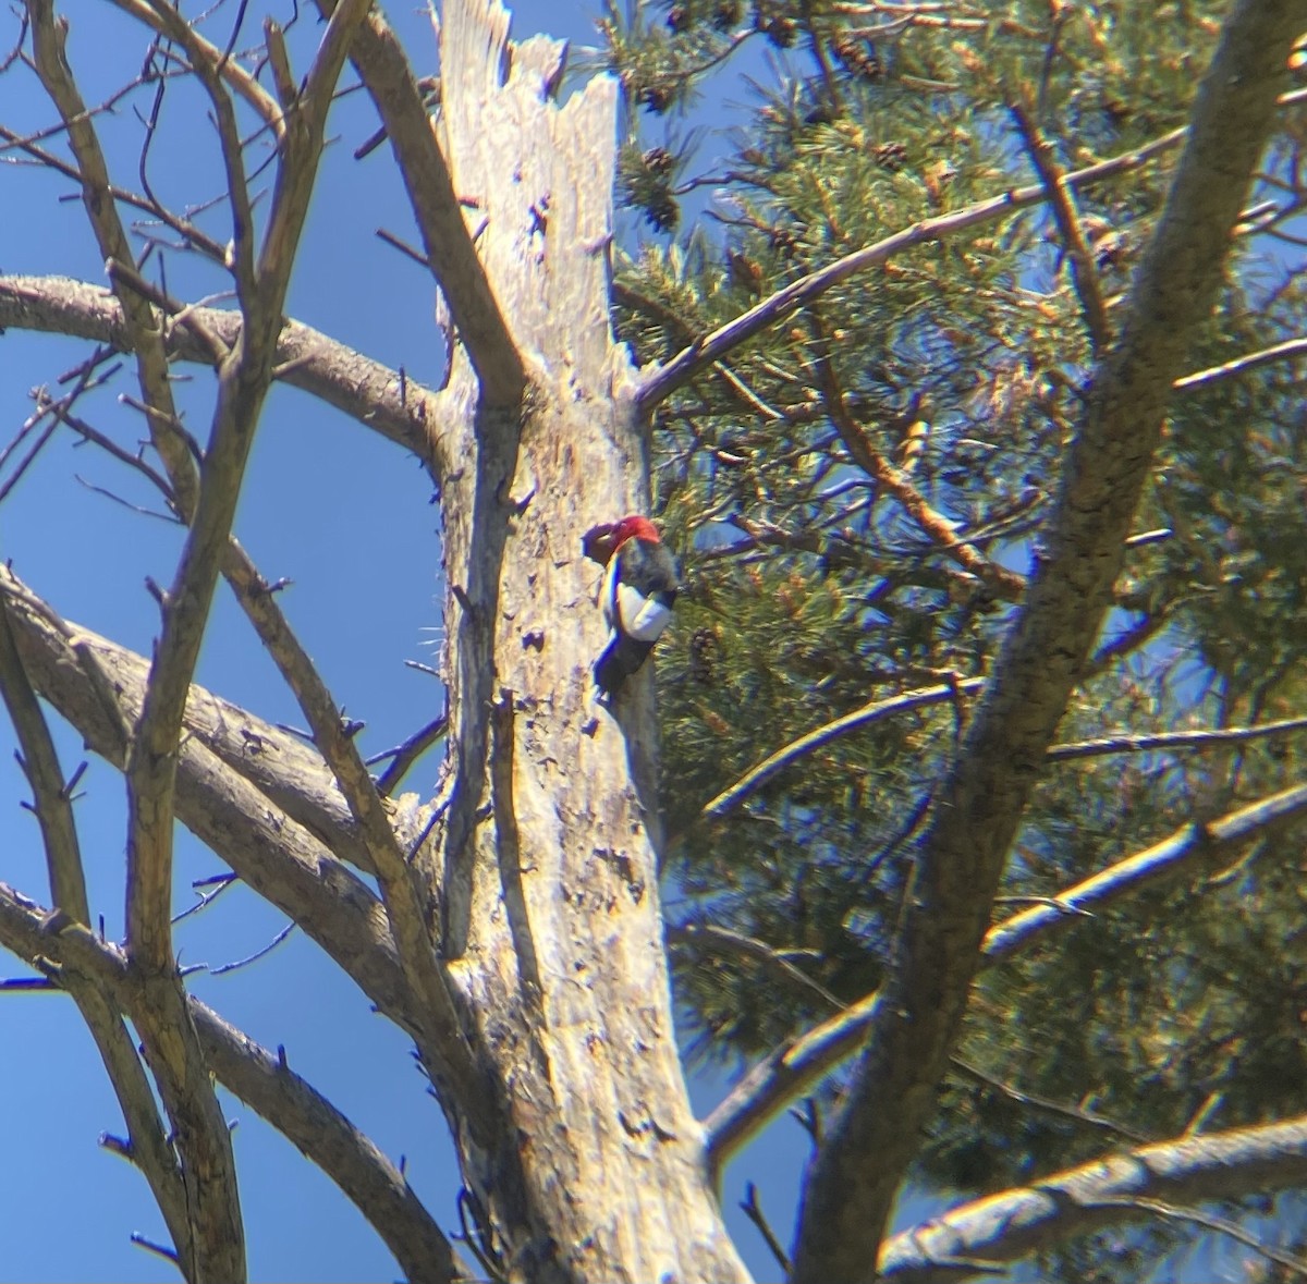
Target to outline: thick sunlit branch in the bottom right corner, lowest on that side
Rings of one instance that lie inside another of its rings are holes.
[[[1073,1236],[1163,1215],[1163,1203],[1200,1204],[1304,1182],[1307,1115],[1158,1141],[962,1204],[903,1230],[886,1242],[877,1279],[955,1284],[976,1270],[1001,1268]]]

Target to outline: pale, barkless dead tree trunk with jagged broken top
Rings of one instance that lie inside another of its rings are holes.
[[[650,680],[609,711],[588,671],[580,533],[648,473],[609,323],[617,85],[559,106],[565,54],[446,8],[438,133],[512,350],[454,344],[433,437],[451,770],[418,867],[493,1106],[443,1098],[511,1279],[735,1280],[673,1032]]]

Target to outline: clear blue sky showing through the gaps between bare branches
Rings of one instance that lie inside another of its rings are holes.
[[[289,10],[289,4],[277,7]],[[261,5],[251,5],[247,31],[256,33]],[[107,5],[64,4],[71,16],[69,60],[89,102],[133,75],[145,42]],[[592,43],[593,9],[582,4],[524,3],[515,7],[515,33],[549,30]],[[416,7],[393,5],[414,64],[429,63],[430,27]],[[305,37],[314,37],[306,22]],[[17,21],[0,18],[8,48]],[[293,46],[293,50],[295,46]],[[303,58],[305,41],[299,46]],[[148,95],[137,99],[149,109]],[[170,90],[169,107],[193,106]],[[0,77],[0,120],[26,129],[52,112],[35,78],[14,67]],[[195,115],[187,114],[195,128]],[[131,106],[102,118],[115,178],[139,187],[141,127]],[[433,292],[423,273],[374,235],[386,226],[408,237],[412,226],[397,179],[382,149],[356,163],[350,153],[375,127],[362,95],[342,102],[332,149],[319,182],[290,313],[346,344],[434,380],[440,349],[431,322]],[[208,124],[200,122],[200,131]],[[165,127],[152,158],[159,190],[196,199],[214,186],[212,136],[199,141]],[[10,160],[5,157],[5,160]],[[105,280],[98,251],[77,200],[60,200],[72,184],[50,174],[0,169],[0,271],[63,273]],[[213,225],[220,226],[218,224]],[[226,233],[222,231],[225,238]],[[220,289],[182,260],[170,262],[175,293]],[[0,339],[0,413],[8,439],[27,417],[30,388],[54,386],[88,352],[55,337],[10,331]],[[191,371],[183,387],[192,429],[207,430],[209,377]],[[120,380],[86,399],[80,412],[97,426],[133,442],[140,425],[116,404]],[[69,618],[118,642],[148,651],[157,613],[145,578],[167,583],[179,549],[175,528],[88,489],[101,486],[133,505],[157,507],[144,484],[71,435],[56,435],[35,467],[0,506],[0,547],[14,570]],[[268,401],[237,519],[237,533],[263,573],[286,577],[282,598],[328,684],[348,713],[367,723],[366,752],[397,744],[442,706],[437,683],[405,668],[429,659],[429,630],[438,620],[437,510],[417,464],[327,407],[277,388]],[[225,590],[209,628],[199,680],[263,717],[301,724],[272,664]],[[84,757],[74,735],[60,730],[65,773]],[[29,798],[12,756],[13,739],[0,719],[0,879],[48,902],[35,821],[18,805]],[[437,758],[418,766],[408,787],[429,791]],[[91,758],[77,804],[94,911],[120,936],[124,872],[124,790],[116,771]],[[176,904],[192,902],[190,883],[222,872],[222,864],[179,829]],[[184,964],[218,966],[265,945],[284,919],[242,887],[223,893],[176,934]],[[21,975],[13,960],[0,974]],[[442,1225],[455,1226],[457,1189],[452,1152],[434,1101],[409,1055],[409,1042],[375,1016],[358,992],[303,936],[291,936],[255,965],[221,977],[197,974],[192,986],[207,1003],[265,1045],[285,1045],[290,1064],[327,1093],[406,1172]],[[694,1084],[701,1109],[724,1084]],[[120,1134],[122,1117],[94,1045],[72,1003],[60,995],[0,994],[0,1280],[175,1280],[167,1263],[133,1246],[140,1232],[163,1238],[162,1219],[145,1182],[102,1149],[102,1132]],[[353,1206],[297,1151],[238,1101],[225,1098],[235,1121],[242,1202],[255,1280],[393,1279],[388,1251]],[[728,1219],[761,1279],[778,1271],[757,1232],[735,1206],[750,1177],[783,1238],[793,1209],[805,1139],[783,1121],[737,1162],[727,1183]]]

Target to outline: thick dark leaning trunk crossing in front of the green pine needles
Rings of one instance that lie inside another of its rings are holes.
[[[1111,601],[1171,384],[1216,299],[1303,12],[1239,0],[1226,21],[1121,339],[1095,371],[1068,450],[1023,608],[940,783],[886,1002],[809,1174],[795,1284],[868,1274],[868,1246],[920,1145],[1006,855]]]

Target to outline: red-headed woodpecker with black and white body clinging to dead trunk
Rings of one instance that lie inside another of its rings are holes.
[[[595,662],[595,685],[613,696],[654,650],[672,618],[681,581],[676,560],[648,518],[596,526],[586,532],[582,547],[605,567],[599,604],[613,635]]]

